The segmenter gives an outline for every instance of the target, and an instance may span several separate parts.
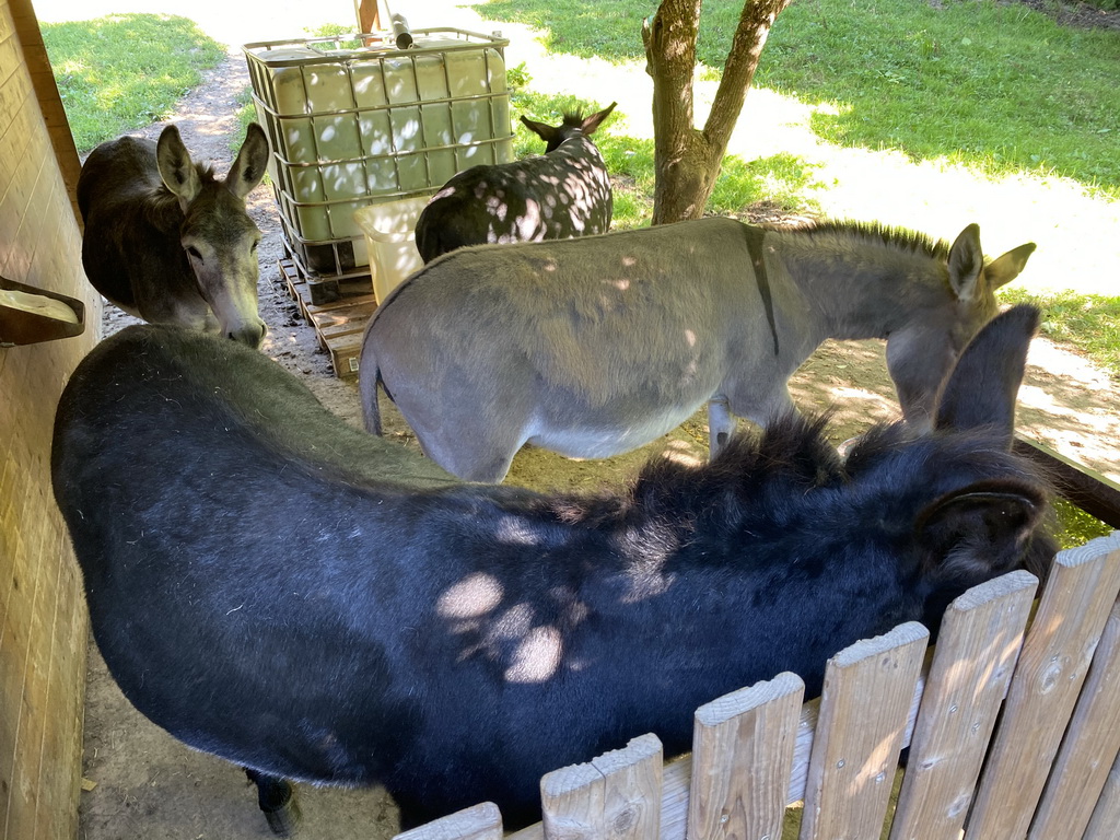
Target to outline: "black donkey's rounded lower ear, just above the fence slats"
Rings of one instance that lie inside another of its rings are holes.
[[[971,585],[1009,570],[1046,513],[1046,494],[1027,482],[981,482],[948,493],[918,515],[915,535],[939,577]]]

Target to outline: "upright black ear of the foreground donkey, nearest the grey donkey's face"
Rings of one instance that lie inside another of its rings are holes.
[[[934,428],[995,427],[1010,448],[1015,432],[1015,400],[1038,320],[1038,309],[1021,304],[981,327],[949,374]]]

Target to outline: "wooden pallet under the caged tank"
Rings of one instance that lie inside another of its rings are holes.
[[[357,361],[362,353],[362,334],[377,308],[370,278],[342,281],[342,297],[329,304],[311,302],[311,290],[300,276],[296,263],[281,259],[280,273],[288,286],[288,293],[299,305],[304,319],[315,328],[319,346],[330,354],[330,364],[339,379],[357,375]]]

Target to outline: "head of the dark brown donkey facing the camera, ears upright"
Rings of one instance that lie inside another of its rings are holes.
[[[256,123],[250,123],[224,181],[190,160],[174,125],[164,129],[156,148],[159,175],[183,211],[179,235],[198,291],[222,334],[251,347],[260,345],[265,326],[256,300],[261,232],[245,212],[245,197],[264,177],[268,156],[264,130]]]

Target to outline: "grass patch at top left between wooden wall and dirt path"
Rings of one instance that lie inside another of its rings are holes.
[[[225,57],[193,21],[168,15],[110,15],[41,30],[78,152],[162,119]]]

